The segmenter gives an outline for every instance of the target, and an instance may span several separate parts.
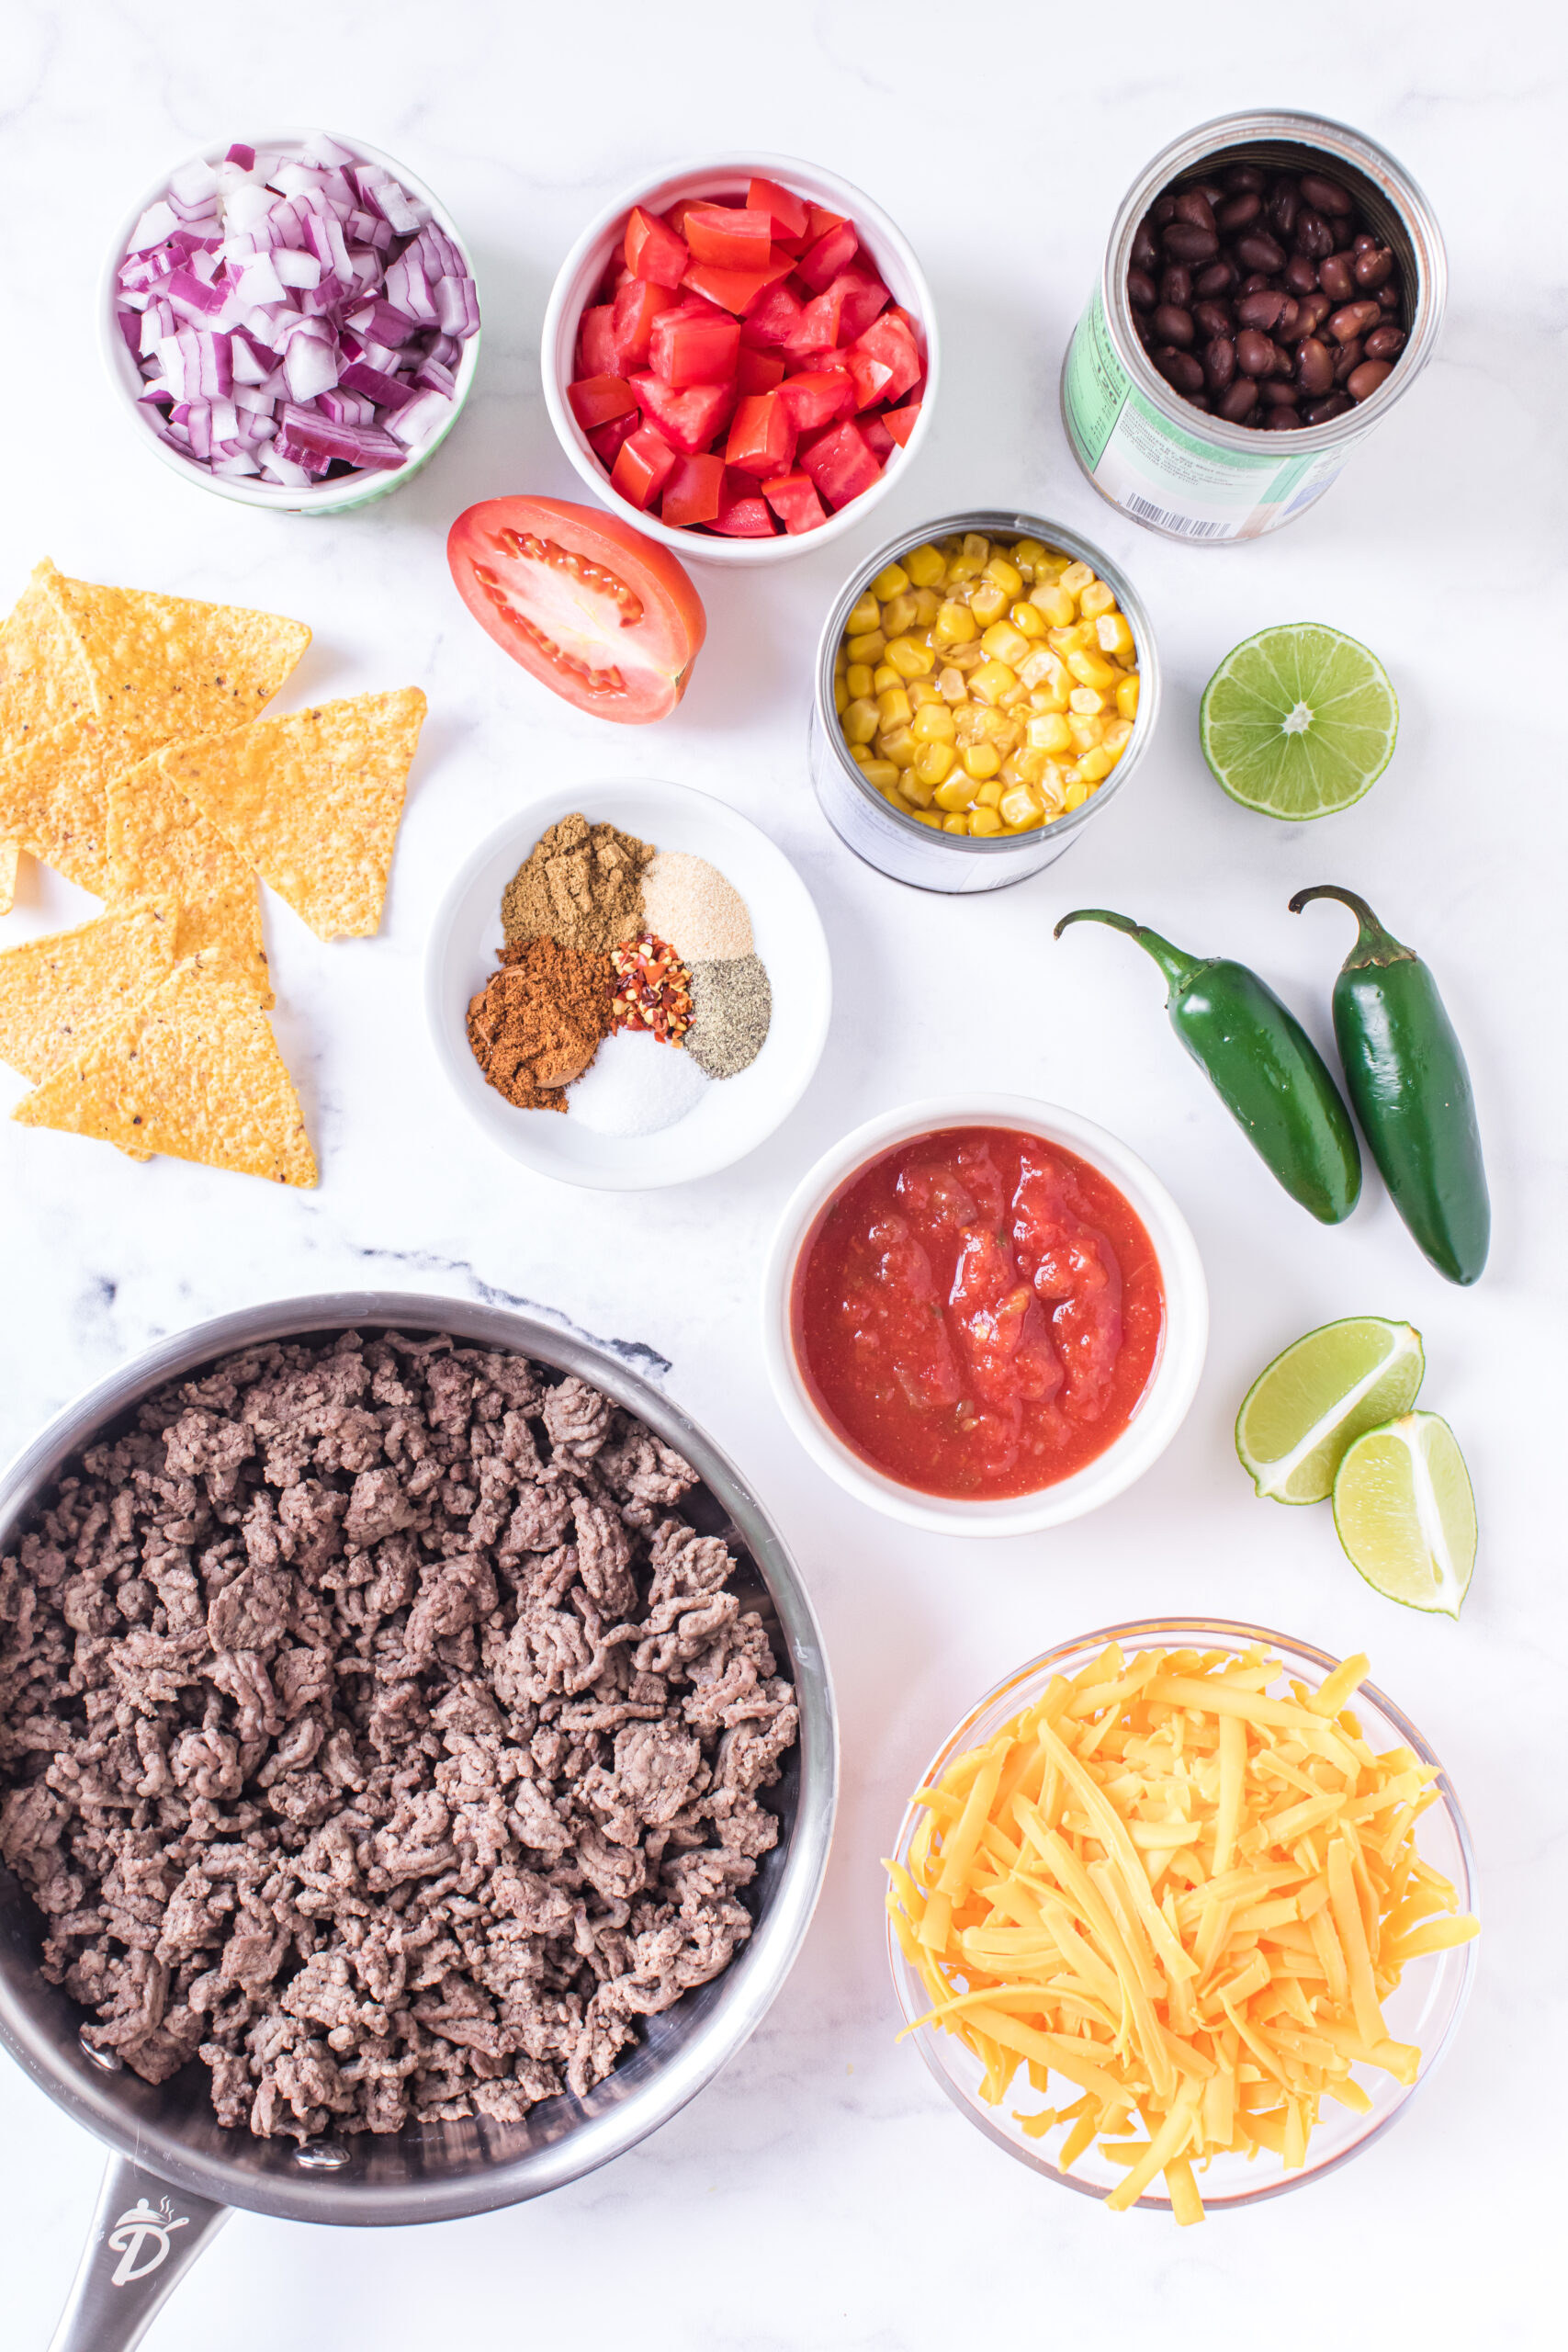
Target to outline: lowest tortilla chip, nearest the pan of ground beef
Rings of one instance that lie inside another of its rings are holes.
[[[315,1183],[299,1096],[266,1014],[244,988],[212,981],[200,957],[101,1023],[12,1117],[273,1183]]]

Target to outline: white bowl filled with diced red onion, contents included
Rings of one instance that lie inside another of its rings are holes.
[[[207,148],[127,219],[103,358],[139,437],[242,506],[341,515],[416,475],[480,355],[480,299],[435,195],[362,139]]]

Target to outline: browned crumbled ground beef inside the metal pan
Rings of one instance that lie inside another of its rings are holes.
[[[517,2122],[750,1933],[795,1693],[696,1470],[599,1390],[256,1348],[0,1559],[0,1853],[148,2082],[299,2140]]]

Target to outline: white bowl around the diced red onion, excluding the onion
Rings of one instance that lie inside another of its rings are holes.
[[[249,143],[259,153],[261,151],[270,153],[273,148],[289,151],[303,146],[303,141],[310,136],[313,136],[310,129],[256,132]],[[407,165],[397,162],[395,155],[383,155],[381,148],[369,146],[364,139],[339,139],[336,132],[327,132],[327,136],[336,139],[339,146],[346,146],[355,158],[355,162],[381,165],[381,169],[390,172],[397,186],[404,188],[414,198],[414,202],[425,205],[435,226],[442,228],[451,238],[456,249],[463,254],[468,275],[473,278],[473,256],[468,252],[468,240],[458,230],[447,207],[430,193],[430,188],[425,188],[423,179],[416,179],[414,172],[409,172]],[[181,456],[181,452],[174,449],[167,440],[162,440],[160,433],[153,433],[153,428],[146,421],[146,412],[141,409],[141,393],[146,390],[146,383],[129,353],[125,336],[120,334],[120,320],[115,315],[118,313],[115,294],[120,289],[120,263],[125,261],[136,221],[148,209],[148,205],[155,205],[162,195],[169,193],[169,181],[174,179],[174,174],[186,162],[197,162],[197,160],[212,165],[221,162],[228,155],[228,146],[230,146],[228,139],[221,139],[216,141],[216,146],[200,148],[200,155],[181,155],[179,162],[169,165],[167,172],[160,172],[160,176],[153,181],[150,188],[143,188],[141,198],[120,221],[120,233],[115,235],[108,261],[103,266],[103,278],[99,282],[99,343],[103,350],[103,367],[108,369],[108,381],[115,388],[120,407],[125,409],[125,416],[129,419],[136,440],[143,445],[143,449],[150,449],[153,456],[162,459],[162,463],[169,466],[172,473],[181,477],[181,482],[193,482],[197,489],[209,489],[216,499],[228,499],[233,506],[270,506],[273,513],[277,515],[346,515],[357,506],[374,506],[390,492],[402,489],[404,482],[411,482],[416,473],[423,473],[423,468],[430,463],[430,459],[442,447],[454,423],[463,414],[463,405],[468,402],[475,369],[480,365],[484,310],[480,310],[477,329],[463,343],[463,358],[458,360],[458,374],[456,374],[456,390],[451,395],[451,416],[447,416],[447,421],[437,426],[430,440],[421,442],[418,449],[409,449],[402,466],[381,466],[374,473],[362,468],[360,473],[341,473],[331,482],[310,482],[308,489],[294,489],[287,482],[259,482],[252,475],[212,473],[212,468],[200,466],[195,459]],[[914,435],[910,435],[910,440],[914,440]]]

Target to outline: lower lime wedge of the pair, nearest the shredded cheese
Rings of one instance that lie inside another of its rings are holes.
[[[1476,1564],[1476,1498],[1436,1414],[1368,1430],[1333,1482],[1333,1524],[1373,1592],[1458,1616]]]

